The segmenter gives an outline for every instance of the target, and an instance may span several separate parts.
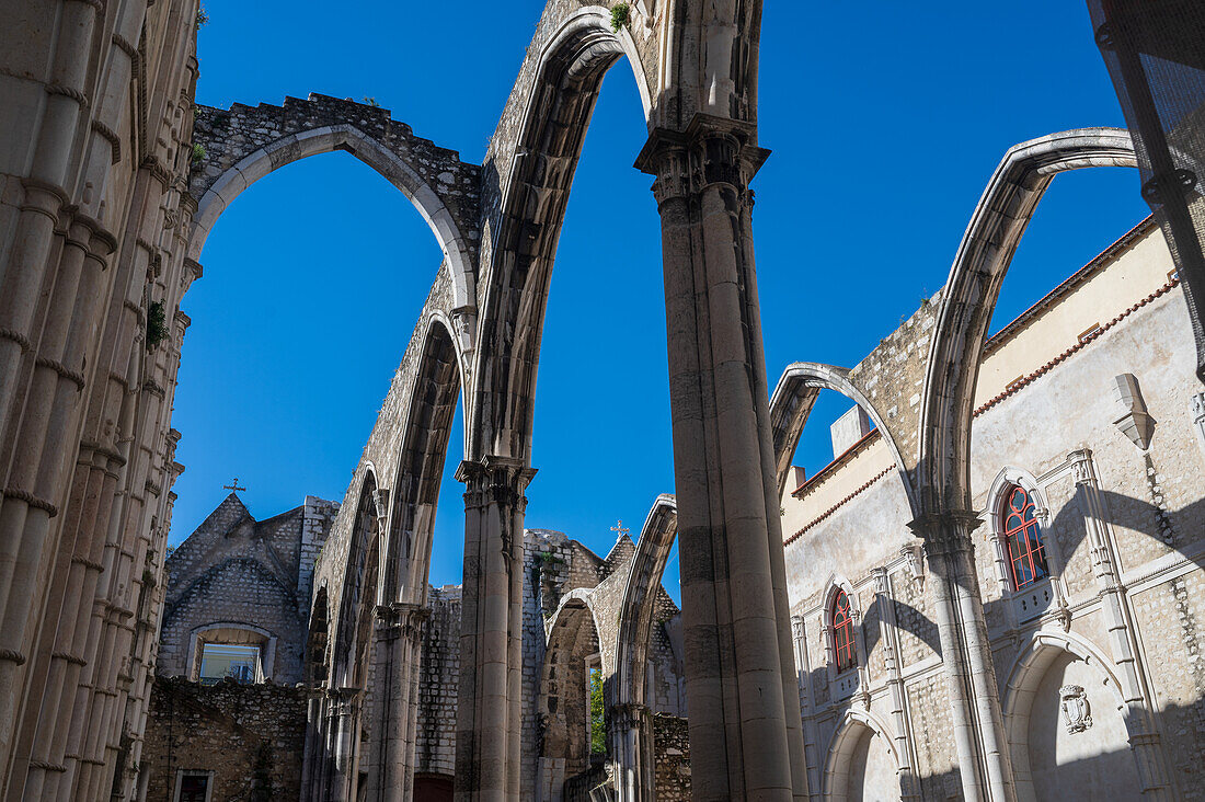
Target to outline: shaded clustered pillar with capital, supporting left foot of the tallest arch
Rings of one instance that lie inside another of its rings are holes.
[[[523,515],[535,470],[487,456],[462,462],[464,596],[457,696],[457,800],[519,796],[523,720]]]

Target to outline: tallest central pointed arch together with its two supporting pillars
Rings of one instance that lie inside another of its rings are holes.
[[[507,692],[519,685],[522,578],[507,566],[522,556],[534,474],[540,336],[589,115],[602,75],[628,52],[605,8],[575,5],[548,5],[483,163],[481,323],[459,474],[468,509],[458,794],[466,797],[521,791],[506,767],[522,759],[521,704]],[[766,156],[756,124],[760,5],[642,4],[627,28],[637,76],[657,76],[653,135],[637,164],[658,176],[683,564],[711,567],[683,575],[687,695],[728,699],[690,716],[703,798],[787,796],[804,784],[751,240],[748,182]],[[481,615],[487,603],[505,614]],[[501,643],[505,658],[488,665]],[[753,740],[758,748],[747,748]]]

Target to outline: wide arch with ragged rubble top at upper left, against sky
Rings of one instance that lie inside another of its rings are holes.
[[[311,94],[307,100],[288,98],[283,107],[199,110],[194,141],[206,157],[202,171],[190,177],[196,212],[188,258],[200,258],[218,217],[252,183],[293,162],[345,151],[400,189],[435,234],[453,277],[452,306],[476,304],[477,165],[415,136],[387,110],[349,100]]]

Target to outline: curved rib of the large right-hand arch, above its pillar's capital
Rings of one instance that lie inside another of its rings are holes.
[[[975,385],[1012,254],[1056,175],[1136,166],[1129,134],[1086,128],[1009,148],[983,191],[941,294],[922,391],[915,482],[925,514],[969,510]]]

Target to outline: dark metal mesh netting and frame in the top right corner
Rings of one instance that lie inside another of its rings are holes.
[[[1188,300],[1205,382],[1205,0],[1088,0],[1138,152],[1142,198]]]

